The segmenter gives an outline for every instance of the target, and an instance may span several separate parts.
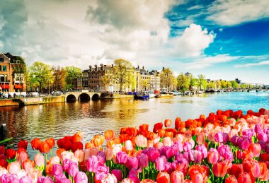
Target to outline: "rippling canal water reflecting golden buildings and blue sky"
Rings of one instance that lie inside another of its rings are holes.
[[[33,138],[45,140],[54,137],[57,140],[76,131],[82,131],[86,143],[107,129],[113,129],[118,134],[123,126],[149,124],[152,130],[156,122],[164,122],[165,119],[194,119],[219,109],[246,113],[247,110],[258,111],[261,107],[269,109],[268,92],[214,93],[150,100],[98,100],[0,107],[0,124],[6,124],[7,136],[14,138],[14,144],[20,139],[31,141]]]

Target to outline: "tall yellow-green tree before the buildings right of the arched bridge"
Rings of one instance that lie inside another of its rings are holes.
[[[111,71],[111,78],[120,85],[120,91],[122,91],[123,85],[127,83],[132,73],[132,64],[125,59],[116,59],[114,65]]]

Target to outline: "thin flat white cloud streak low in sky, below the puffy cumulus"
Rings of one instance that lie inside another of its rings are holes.
[[[239,57],[231,57],[228,54],[218,54],[214,57],[202,57],[195,61],[185,64],[186,69],[204,69],[214,64],[225,63],[238,59]]]

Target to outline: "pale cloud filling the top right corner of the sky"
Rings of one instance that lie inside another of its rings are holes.
[[[268,0],[217,0],[207,9],[212,20],[219,25],[237,25],[269,17]]]

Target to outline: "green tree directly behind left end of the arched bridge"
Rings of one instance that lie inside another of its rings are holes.
[[[65,70],[67,71],[67,77],[66,77],[67,85],[69,85],[69,88],[74,88],[76,85],[76,79],[82,73],[81,69],[79,69],[76,66],[66,66]]]

